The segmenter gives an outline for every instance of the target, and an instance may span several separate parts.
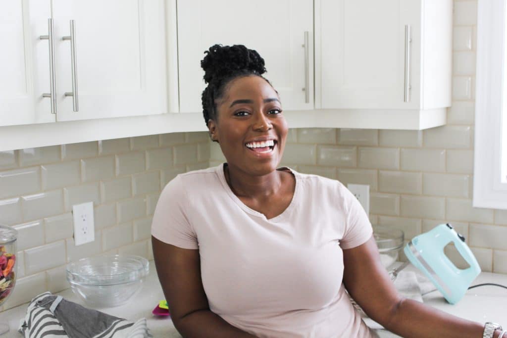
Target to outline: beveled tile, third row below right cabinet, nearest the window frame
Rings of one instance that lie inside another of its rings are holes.
[[[472,180],[468,175],[423,174],[424,195],[468,198]]]

